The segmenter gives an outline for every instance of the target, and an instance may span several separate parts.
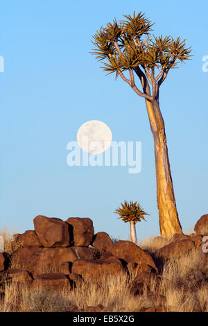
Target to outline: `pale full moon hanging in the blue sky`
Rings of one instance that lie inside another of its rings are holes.
[[[80,126],[77,141],[83,151],[90,154],[100,154],[110,147],[112,132],[103,121],[89,120]]]

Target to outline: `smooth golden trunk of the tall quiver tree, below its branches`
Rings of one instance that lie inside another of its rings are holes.
[[[162,237],[170,238],[175,233],[182,233],[182,228],[175,204],[164,120],[159,109],[158,100],[153,102],[146,100],[146,108],[155,144],[155,173],[160,234]]]

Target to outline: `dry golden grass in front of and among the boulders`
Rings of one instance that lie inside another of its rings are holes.
[[[11,232],[4,230],[3,237],[5,250],[10,254],[21,246],[21,243],[11,243]],[[155,250],[168,243],[168,240],[156,237],[142,241],[139,246],[154,256]],[[137,276],[136,273],[130,277],[112,275],[99,284],[78,283],[71,291],[33,289],[28,284],[4,282],[0,277],[0,311],[65,311],[71,304],[76,305],[78,311],[85,311],[87,307],[98,304],[102,304],[105,311],[109,312],[142,311],[153,304],[148,297],[148,291],[152,291],[157,294],[155,306],[162,304],[166,311],[208,312],[208,273],[204,267],[204,258],[205,254],[201,250],[191,250],[178,259],[164,261],[159,285],[156,279],[151,280],[149,288],[144,286],[144,293],[136,297],[130,291],[130,283]],[[54,271],[53,268],[50,271]],[[45,272],[49,272],[48,269]],[[161,298],[165,298],[165,303],[161,302]]]

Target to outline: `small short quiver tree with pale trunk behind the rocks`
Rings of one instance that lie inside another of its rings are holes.
[[[130,201],[130,203],[128,203],[127,200],[125,200],[124,203],[121,203],[121,207],[116,209],[114,213],[119,214],[120,216],[118,218],[122,218],[123,222],[130,223],[131,241],[137,244],[137,232],[135,225],[137,222],[141,222],[141,219],[146,221],[144,215],[149,214],[144,212],[143,208],[141,205],[139,205],[139,203],[137,203],[137,201]]]

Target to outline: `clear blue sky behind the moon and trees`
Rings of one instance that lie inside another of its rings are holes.
[[[153,137],[146,107],[126,83],[105,76],[92,51],[101,25],[142,11],[155,35],[181,36],[193,60],[168,75],[160,92],[173,185],[184,232],[208,213],[207,1],[3,1],[0,12],[0,228],[33,230],[37,214],[92,218],[95,232],[128,237],[114,214],[138,200],[148,222],[137,237],[159,234]],[[142,142],[142,169],[67,166],[67,143],[82,123],[101,120],[114,141]]]

